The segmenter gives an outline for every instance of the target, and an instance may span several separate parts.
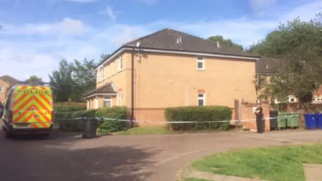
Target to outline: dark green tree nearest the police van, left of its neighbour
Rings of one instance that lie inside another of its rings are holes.
[[[73,65],[68,63],[66,59],[59,62],[58,70],[49,75],[50,86],[53,90],[55,101],[67,102],[74,93],[75,83],[72,80]]]

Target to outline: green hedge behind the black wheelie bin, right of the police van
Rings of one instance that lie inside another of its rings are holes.
[[[127,118],[127,107],[109,107],[101,109],[80,110],[72,112],[57,112],[55,113],[56,123],[59,123],[59,129],[64,131],[84,131],[83,119],[71,119],[77,117],[108,117],[115,119]],[[125,130],[128,126],[127,122],[121,122],[117,120],[104,120],[99,122],[98,131],[100,134],[108,134]]]

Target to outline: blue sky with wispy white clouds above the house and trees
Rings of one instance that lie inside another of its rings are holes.
[[[248,47],[280,22],[319,12],[322,0],[0,0],[0,76],[49,81],[62,58],[98,62],[164,28]]]

